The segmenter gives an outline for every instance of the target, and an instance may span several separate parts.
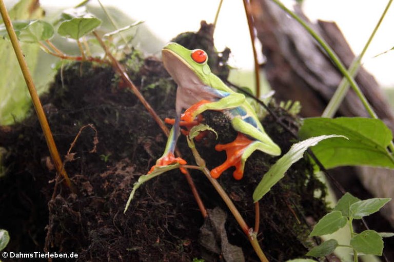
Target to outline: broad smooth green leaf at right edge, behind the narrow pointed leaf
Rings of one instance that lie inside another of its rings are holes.
[[[307,118],[299,131],[303,139],[330,134],[345,135],[349,140],[345,142],[333,138],[313,148],[313,153],[326,168],[358,165],[394,168],[394,158],[386,150],[392,133],[382,120],[362,117]]]

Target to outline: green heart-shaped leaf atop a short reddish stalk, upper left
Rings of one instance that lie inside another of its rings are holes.
[[[96,17],[72,18],[71,20],[63,22],[57,29],[57,33],[77,40],[93,31],[96,27],[100,26],[100,24],[100,19]]]

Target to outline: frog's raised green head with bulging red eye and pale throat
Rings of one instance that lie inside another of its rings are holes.
[[[207,85],[211,70],[208,55],[201,49],[189,50],[179,44],[169,43],[162,50],[164,67],[181,87]]]

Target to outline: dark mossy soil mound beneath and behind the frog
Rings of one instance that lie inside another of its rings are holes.
[[[173,117],[175,85],[162,63],[134,52],[125,64],[133,69],[129,72],[133,82],[154,110],[163,118]],[[34,114],[23,123],[3,128],[0,144],[7,150],[3,163],[7,173],[0,178],[0,228],[11,236],[7,251],[74,252],[78,261],[192,261],[202,257],[223,261],[223,254],[209,252],[199,243],[204,219],[178,170],[141,186],[123,213],[133,183],[161,156],[166,137],[133,93],[122,87],[111,67],[76,63],[62,70],[42,103],[63,156],[78,131],[92,125],[82,130],[65,165],[77,191],[70,192],[64,183],[55,188],[56,175]],[[279,108],[272,109],[297,129],[297,120]],[[225,153],[216,152],[214,145],[229,142],[234,131],[219,112],[204,117],[219,133],[217,141],[208,135],[198,143],[207,166],[213,168],[225,159]],[[291,136],[270,116],[263,125],[286,152],[293,143]],[[178,145],[193,164],[184,137]],[[276,159],[255,152],[242,180],[234,180],[231,170],[219,179],[250,227],[254,226],[253,190]],[[220,207],[227,213],[229,243],[242,248],[246,261],[258,261],[205,176],[195,170],[191,174],[206,207]],[[316,190],[322,197],[313,196]],[[307,252],[311,239],[306,220],[316,221],[325,214],[324,196],[325,187],[314,177],[312,165],[302,159],[260,201],[258,239],[270,261]]]

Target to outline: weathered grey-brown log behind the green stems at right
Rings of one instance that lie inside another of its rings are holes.
[[[264,71],[278,100],[299,100],[304,117],[320,116],[338,87],[342,75],[307,31],[282,9],[266,0],[252,2],[254,26],[266,57]],[[305,20],[299,6],[296,12]],[[309,25],[337,53],[346,67],[354,59],[349,45],[335,23],[319,21]],[[394,129],[394,114],[375,78],[361,68],[356,82],[387,126]],[[349,90],[337,116],[364,116],[366,110],[357,95]],[[347,169],[346,174],[349,175]],[[394,198],[394,172],[379,168],[353,169],[364,187],[376,197]],[[336,172],[340,170],[336,170]],[[394,226],[394,201],[383,211]]]

